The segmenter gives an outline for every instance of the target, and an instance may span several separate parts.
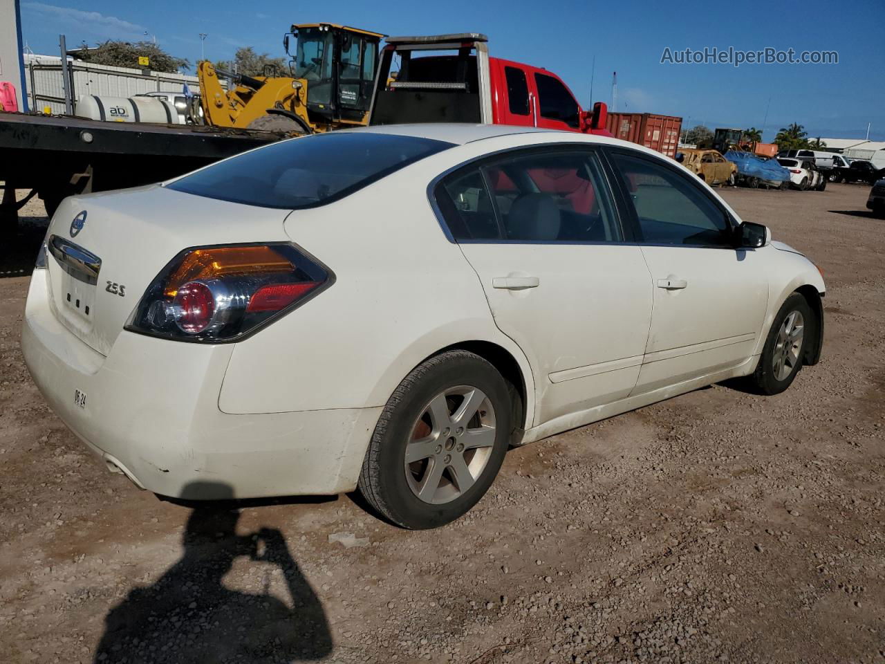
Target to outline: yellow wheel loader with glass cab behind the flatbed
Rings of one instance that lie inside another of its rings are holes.
[[[293,25],[283,38],[291,76],[245,76],[204,60],[196,74],[205,123],[291,135],[366,125],[384,36],[331,23]],[[227,90],[219,78],[229,81]]]

